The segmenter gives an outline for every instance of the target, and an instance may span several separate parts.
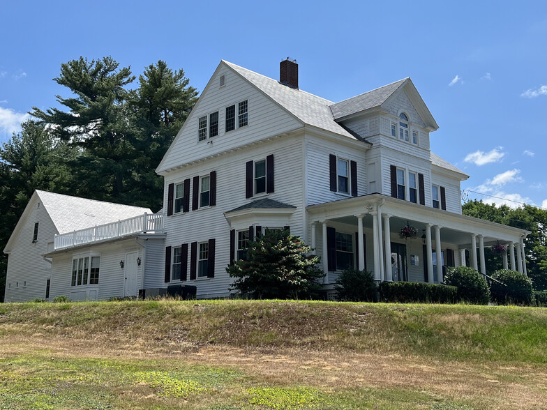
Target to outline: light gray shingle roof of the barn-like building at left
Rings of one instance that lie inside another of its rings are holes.
[[[113,204],[36,190],[59,234],[153,213],[149,208]]]

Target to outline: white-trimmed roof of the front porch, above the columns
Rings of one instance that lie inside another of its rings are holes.
[[[425,229],[426,224],[437,225],[444,228],[443,241],[460,245],[470,242],[470,234],[483,235],[486,243],[488,241],[493,243],[495,241],[518,242],[520,238],[530,234],[530,231],[525,229],[414,204],[377,193],[310,205],[306,207],[306,210],[313,221],[337,220],[342,223],[355,224],[357,215],[366,216],[375,212],[379,205],[382,215],[394,217],[392,218],[394,222],[391,223],[392,231],[406,225],[405,221],[409,221],[410,225],[420,230]],[[396,220],[400,220],[398,224]]]

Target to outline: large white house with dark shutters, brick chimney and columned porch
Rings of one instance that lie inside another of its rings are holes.
[[[410,78],[334,103],[300,90],[288,59],[279,81],[220,61],[156,169],[165,195],[155,229],[107,245],[89,231],[80,243],[63,236],[47,254],[64,278],[59,291],[77,291],[71,267],[96,252],[97,298],[176,284],[198,298],[228,296],[227,264],[266,227],[290,227],[316,249],[327,290],[349,266],[378,281],[442,282],[445,266],[466,263],[486,273],[484,248],[497,241],[508,245],[504,264],[525,272],[527,231],[461,214],[468,176],[430,151],[437,128]],[[400,238],[406,225],[416,238]],[[109,266],[146,248],[138,289],[103,287],[103,252],[114,248]]]

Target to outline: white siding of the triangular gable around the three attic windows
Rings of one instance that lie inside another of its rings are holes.
[[[226,85],[220,87],[218,78],[225,75]],[[248,126],[225,132],[225,109],[243,100],[248,101]],[[200,117],[218,111],[218,135],[198,141],[197,130]],[[264,96],[234,70],[221,63],[218,73],[204,89],[200,100],[193,108],[179,135],[158,168],[170,169],[200,158],[234,149],[272,135],[300,128],[302,124]],[[207,144],[211,142],[210,144]]]

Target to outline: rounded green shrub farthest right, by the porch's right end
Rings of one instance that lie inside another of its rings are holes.
[[[530,305],[532,303],[532,281],[524,273],[500,269],[492,274],[490,294],[493,301],[500,305],[518,303]],[[502,282],[502,283],[500,283]]]

